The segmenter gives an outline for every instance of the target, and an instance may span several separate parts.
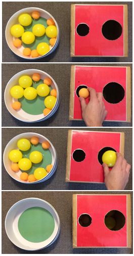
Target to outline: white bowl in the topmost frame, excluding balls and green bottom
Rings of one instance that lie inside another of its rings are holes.
[[[23,55],[23,49],[24,47],[21,46],[20,48],[16,48],[14,45],[13,45],[13,39],[14,37],[11,35],[10,33],[10,29],[11,27],[14,25],[14,24],[19,24],[18,22],[18,17],[20,14],[22,13],[29,13],[31,14],[33,11],[38,11],[40,13],[40,17],[42,18],[46,18],[46,19],[49,19],[49,18],[52,18],[55,22],[55,25],[57,27],[57,41],[54,45],[54,47],[51,47],[50,46],[50,51],[45,54],[45,55],[42,55],[42,56],[39,56],[39,57],[36,57],[36,58],[32,58],[30,56],[24,56]],[[40,8],[36,8],[36,7],[30,7],[30,8],[24,8],[18,12],[16,12],[15,14],[13,14],[13,16],[9,19],[8,23],[7,23],[7,26],[6,26],[6,31],[5,31],[5,36],[6,36],[6,41],[7,41],[7,44],[9,46],[9,48],[12,50],[13,53],[15,53],[16,55],[18,55],[19,57],[21,58],[24,58],[24,59],[40,59],[42,57],[45,57],[45,56],[48,56],[50,55],[52,52],[54,52],[54,50],[57,48],[58,44],[59,44],[59,41],[60,41],[60,32],[59,32],[59,26],[56,22],[56,20],[54,19],[54,17],[48,13],[47,11],[43,10],[43,9],[40,9]]]

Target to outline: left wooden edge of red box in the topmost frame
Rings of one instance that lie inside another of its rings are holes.
[[[75,47],[75,5],[71,5],[71,38],[70,38],[70,56],[74,56]]]

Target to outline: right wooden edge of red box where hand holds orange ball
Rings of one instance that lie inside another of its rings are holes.
[[[126,67],[126,122],[131,122],[131,68]]]

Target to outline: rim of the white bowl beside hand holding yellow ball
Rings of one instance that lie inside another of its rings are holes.
[[[7,173],[10,175],[10,177],[11,178],[13,178],[14,180],[16,180],[16,181],[18,181],[18,182],[20,182],[20,183],[22,183],[22,184],[26,184],[26,185],[32,185],[32,184],[39,184],[40,182],[38,182],[38,183],[36,183],[35,181],[33,181],[33,182],[25,182],[25,181],[21,181],[21,180],[18,180],[18,179],[16,179],[16,178],[14,178],[10,173],[9,173],[9,171],[7,170],[7,168],[6,168],[6,166],[5,166],[5,160],[4,160],[4,158],[5,158],[5,154],[6,154],[6,150],[8,149],[8,146],[9,146],[9,143],[12,141],[12,140],[14,140],[16,137],[18,137],[18,136],[20,136],[20,135],[25,135],[25,134],[34,134],[35,136],[41,136],[41,137],[43,137],[44,139],[46,139],[47,141],[49,141],[49,143],[51,144],[51,147],[52,147],[52,150],[53,150],[53,152],[54,152],[54,166],[53,166],[53,168],[55,167],[55,164],[56,164],[56,161],[57,161],[57,153],[56,153],[56,150],[55,150],[55,148],[54,148],[54,145],[52,144],[52,142],[47,138],[47,137],[45,137],[45,136],[43,136],[43,135],[41,135],[41,134],[39,134],[39,133],[35,133],[35,132],[24,132],[24,133],[20,133],[20,134],[18,134],[18,135],[16,135],[15,137],[13,137],[8,143],[7,143],[7,145],[6,145],[6,147],[5,147],[5,150],[4,150],[4,153],[3,153],[3,163],[4,163],[4,167],[5,167],[5,170],[7,171]],[[33,136],[33,135],[32,135]],[[16,138],[17,139],[17,138]],[[53,168],[52,168],[52,170],[51,170],[51,172],[53,171]],[[50,172],[50,173],[51,173]],[[49,175],[49,173],[48,173],[48,175]],[[48,176],[47,175],[47,176]],[[47,177],[46,176],[46,177]],[[49,177],[50,178],[50,177]],[[48,178],[48,179],[49,179]],[[43,178],[42,179],[40,179],[40,180],[43,180]],[[45,181],[45,180],[44,180]],[[43,182],[43,181],[42,181]]]

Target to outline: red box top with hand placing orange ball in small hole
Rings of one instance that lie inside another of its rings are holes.
[[[108,111],[106,120],[126,121],[126,67],[106,66],[75,66],[73,119],[82,120],[80,101],[76,95],[78,86],[86,85],[87,87],[94,88],[97,92],[103,92],[105,85],[111,82],[120,84],[125,91],[125,95],[116,104],[109,103],[103,98]],[[87,99],[86,102],[88,102]]]

